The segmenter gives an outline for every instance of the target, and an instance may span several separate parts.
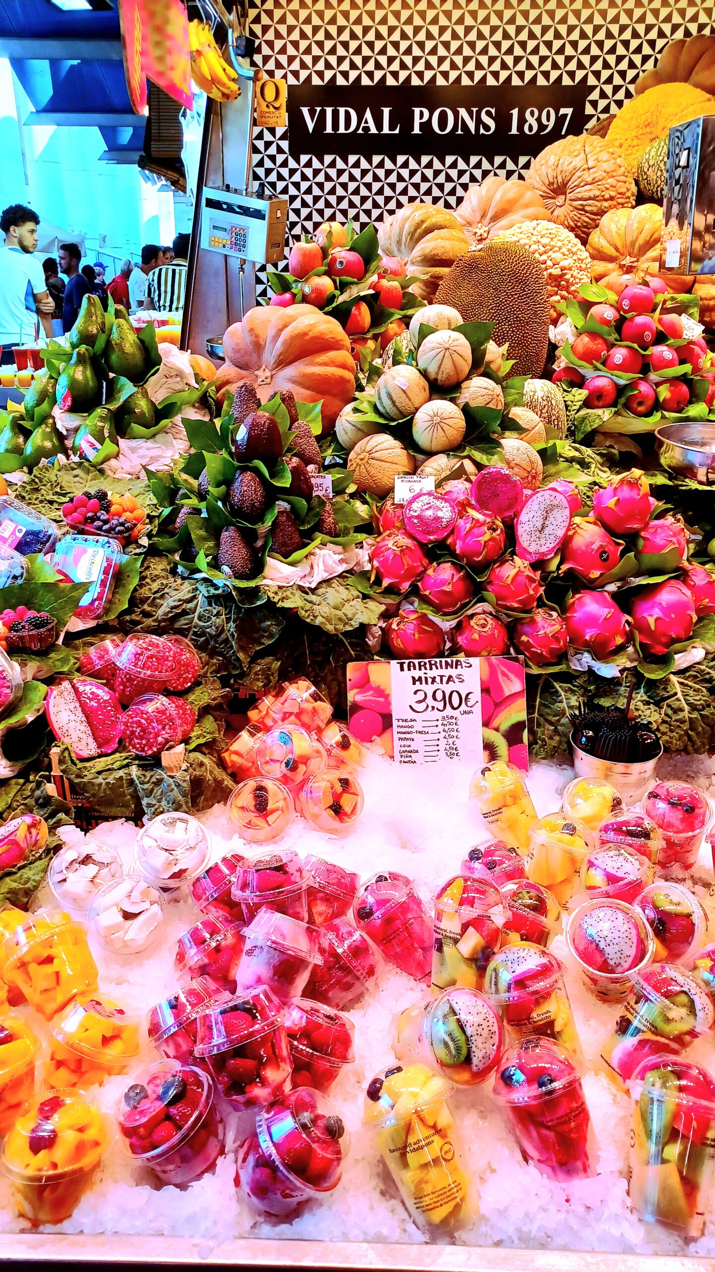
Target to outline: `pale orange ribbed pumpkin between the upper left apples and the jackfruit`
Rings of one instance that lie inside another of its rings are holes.
[[[430,304],[469,243],[454,212],[433,204],[407,204],[380,225],[379,247],[383,256],[405,263],[405,272],[417,280],[411,290]]]

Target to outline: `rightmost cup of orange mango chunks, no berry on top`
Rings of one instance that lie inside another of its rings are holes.
[[[83,993],[52,1028],[45,1081],[48,1086],[101,1085],[139,1054],[139,1019],[106,997]]]

